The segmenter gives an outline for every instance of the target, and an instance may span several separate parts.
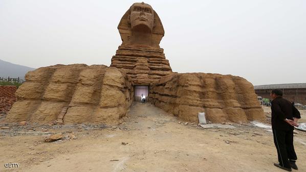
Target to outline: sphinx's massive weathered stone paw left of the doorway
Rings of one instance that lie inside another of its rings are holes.
[[[133,100],[133,87],[120,69],[84,64],[41,67],[26,75],[6,120],[51,122],[68,107],[64,122],[116,123]]]

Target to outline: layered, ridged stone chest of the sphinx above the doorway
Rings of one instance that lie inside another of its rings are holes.
[[[172,73],[162,48],[121,45],[112,58],[111,67],[122,68],[134,84],[140,85],[149,85]]]

